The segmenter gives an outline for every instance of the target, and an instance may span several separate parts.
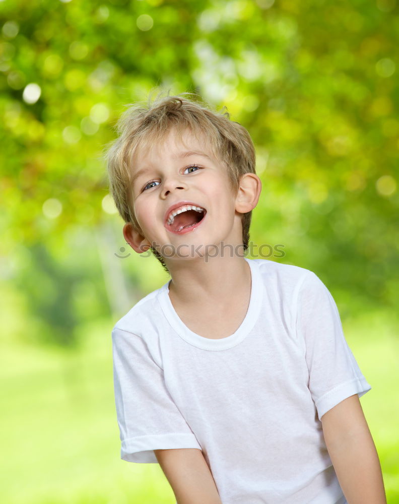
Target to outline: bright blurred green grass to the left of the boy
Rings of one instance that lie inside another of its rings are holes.
[[[1,371],[2,502],[173,504],[157,464],[120,460],[111,325],[85,328],[84,346],[8,345]]]

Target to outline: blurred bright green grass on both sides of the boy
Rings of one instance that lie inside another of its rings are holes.
[[[111,328],[110,321],[82,327],[83,345],[69,354],[3,345],[0,486],[5,504],[174,504],[157,464],[119,458]],[[399,503],[398,328],[389,312],[344,322],[350,347],[373,387],[361,402],[391,504]]]

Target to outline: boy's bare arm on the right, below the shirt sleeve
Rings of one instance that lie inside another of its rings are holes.
[[[377,451],[356,395],[322,417],[325,444],[349,504],[386,504]]]

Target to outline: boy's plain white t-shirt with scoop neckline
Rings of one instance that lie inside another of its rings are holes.
[[[154,449],[197,448],[223,504],[344,504],[319,418],[371,387],[321,280],[246,261],[251,297],[231,336],[190,331],[169,282],[115,325],[121,458],[156,463]]]

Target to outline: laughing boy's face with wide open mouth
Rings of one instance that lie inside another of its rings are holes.
[[[173,257],[195,257],[204,255],[206,245],[242,243],[227,167],[205,141],[189,131],[180,141],[172,130],[160,146],[139,148],[133,165],[132,205],[143,236],[141,251],[155,243],[163,257],[165,245],[171,245],[163,249],[166,257],[173,250],[178,250]]]

